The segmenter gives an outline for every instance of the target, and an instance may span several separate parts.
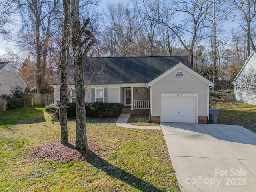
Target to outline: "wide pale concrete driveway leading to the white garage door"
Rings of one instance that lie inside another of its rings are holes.
[[[162,123],[184,192],[254,192],[256,134],[242,126]]]

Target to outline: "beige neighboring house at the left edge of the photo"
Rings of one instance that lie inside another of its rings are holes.
[[[8,62],[0,62],[0,95],[9,94],[17,86],[26,88],[26,83]]]

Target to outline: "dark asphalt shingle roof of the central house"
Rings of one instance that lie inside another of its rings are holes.
[[[87,84],[122,84],[122,83],[148,83],[170,68],[182,64],[191,68],[187,56],[149,56],[149,57],[93,57],[84,61],[84,81]],[[67,68],[69,84],[74,84],[72,76],[74,66]],[[90,77],[92,77],[90,79]],[[57,76],[52,85],[60,84]]]

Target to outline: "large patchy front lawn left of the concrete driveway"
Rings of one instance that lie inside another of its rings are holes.
[[[27,116],[33,113],[34,118]],[[116,119],[88,119],[89,152],[77,151],[80,160],[63,161],[40,155],[60,140],[60,123],[49,116],[31,107],[28,112],[4,112],[0,118],[0,191],[179,191],[161,130],[120,128]],[[74,120],[68,122],[68,134],[74,141]],[[63,147],[74,150],[72,145]],[[53,149],[53,154],[60,150]]]

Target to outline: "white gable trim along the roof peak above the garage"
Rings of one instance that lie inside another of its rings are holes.
[[[190,69],[189,67],[187,67],[186,65],[182,64],[182,63],[178,63],[176,66],[174,66],[173,68],[169,69],[168,71],[164,72],[163,74],[161,74],[160,76],[158,76],[157,78],[155,78],[154,80],[150,81],[148,83],[148,86],[152,86],[152,84],[158,82],[159,80],[161,80],[162,78],[164,78],[165,76],[167,76],[168,74],[170,74],[171,72],[173,72],[174,70],[178,69],[179,67],[183,68],[184,70],[186,70],[187,72],[189,72],[190,74],[196,76],[198,79],[202,80],[203,82],[205,82],[206,84],[208,84],[208,86],[213,86],[213,83],[210,82],[208,79],[204,78],[203,76],[201,76],[200,74],[198,74],[197,72],[195,72],[194,70]]]

